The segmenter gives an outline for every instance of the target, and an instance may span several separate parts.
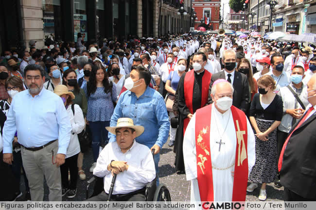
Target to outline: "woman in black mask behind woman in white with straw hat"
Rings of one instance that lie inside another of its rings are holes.
[[[86,117],[87,110],[88,110],[87,97],[86,97],[85,91],[78,86],[77,74],[76,74],[75,70],[67,69],[64,72],[63,85],[66,85],[69,92],[73,93],[75,98],[72,100],[72,103],[79,105],[84,117]],[[80,152],[78,154],[77,166],[78,166],[79,178],[81,180],[86,179],[86,174],[85,174],[84,170],[82,169],[83,158],[84,158],[84,153]]]

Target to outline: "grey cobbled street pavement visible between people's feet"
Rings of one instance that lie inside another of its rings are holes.
[[[87,180],[92,177],[92,173],[89,172],[90,165],[93,162],[92,149],[85,153],[84,156],[84,170],[87,176],[86,180],[80,180],[78,177],[77,182],[77,195],[74,198],[63,197],[63,201],[84,201],[86,199]],[[159,179],[160,183],[164,183],[171,194],[172,201],[190,201],[190,181],[186,180],[185,175],[176,174],[175,170],[175,153],[173,147],[168,146],[168,142],[163,146],[160,151],[159,162]],[[23,177],[23,176],[21,176]],[[21,178],[21,189],[25,189],[23,178]],[[45,195],[44,200],[48,201],[48,188],[44,181]],[[247,193],[246,201],[259,201],[258,195],[260,186],[253,193]],[[276,188],[273,183],[270,183],[266,187],[267,201],[282,201],[283,200],[283,187]],[[92,193],[90,189],[89,194]],[[24,200],[24,195],[17,200]]]

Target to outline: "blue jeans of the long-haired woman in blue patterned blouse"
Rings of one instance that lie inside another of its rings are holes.
[[[108,131],[105,129],[107,126],[110,126],[110,121],[89,122],[92,135],[93,162],[97,162],[101,142],[104,142],[105,145],[108,143]]]

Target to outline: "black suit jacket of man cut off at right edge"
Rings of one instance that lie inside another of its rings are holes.
[[[299,121],[289,133],[292,133]],[[315,128],[316,113],[305,120],[291,135],[283,154],[283,163],[280,171],[282,186],[304,198],[312,199],[316,198]]]

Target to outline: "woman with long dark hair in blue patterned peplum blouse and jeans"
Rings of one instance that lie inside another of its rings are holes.
[[[114,104],[117,100],[116,85],[108,80],[105,67],[101,64],[92,67],[89,81],[83,87],[88,98],[87,121],[92,134],[93,164],[96,165],[101,141],[108,143],[106,126],[110,125]]]

